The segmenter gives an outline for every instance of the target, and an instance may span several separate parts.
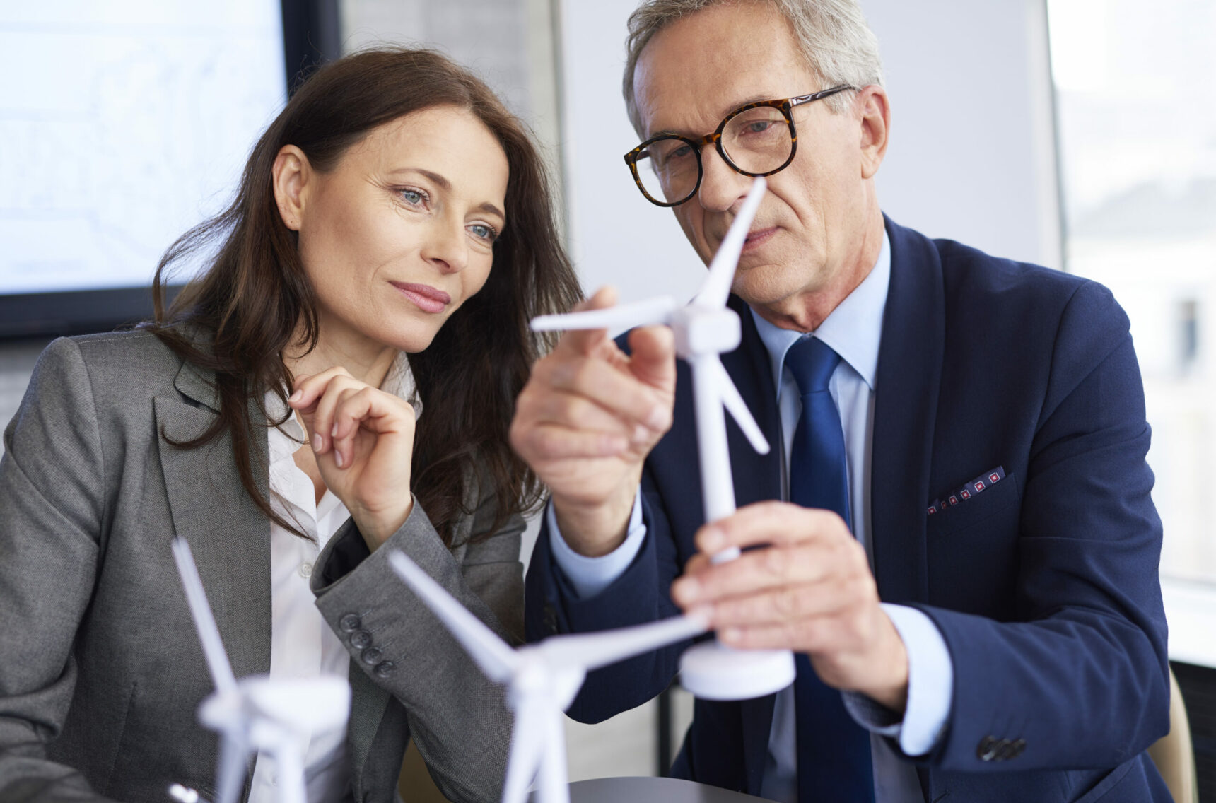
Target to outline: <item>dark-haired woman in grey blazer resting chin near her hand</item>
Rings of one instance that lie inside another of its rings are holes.
[[[501,690],[387,554],[519,633],[540,489],[507,429],[528,319],[578,296],[519,122],[434,52],[326,66],[156,290],[152,324],[52,343],[5,433],[0,799],[214,797],[174,535],[238,676],[349,678],[347,732],[309,743],[311,801],[393,801],[411,736],[449,798],[496,799]],[[258,757],[249,799],[272,770]]]

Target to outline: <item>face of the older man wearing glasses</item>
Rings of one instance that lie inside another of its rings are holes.
[[[788,23],[765,2],[719,5],[671,23],[642,51],[634,88],[644,137],[699,137],[743,103],[828,89],[806,66]],[[749,304],[776,310],[799,296],[831,292],[858,269],[863,277],[872,266],[857,264],[873,191],[861,112],[834,114],[817,101],[795,107],[793,117],[798,152],[769,176],[733,287]],[[751,179],[713,146],[702,151],[702,163],[700,190],[674,212],[708,263]]]

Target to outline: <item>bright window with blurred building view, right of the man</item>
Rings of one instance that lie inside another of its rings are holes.
[[[1131,319],[1161,574],[1216,584],[1216,0],[1048,0],[1065,265]]]

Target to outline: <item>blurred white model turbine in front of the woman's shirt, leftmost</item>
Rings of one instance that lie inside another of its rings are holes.
[[[253,675],[237,680],[195,558],[181,538],[173,540],[173,557],[215,681],[215,692],[198,707],[199,721],[220,734],[215,803],[237,803],[244,785],[246,760],[257,751],[275,762],[278,803],[308,803],[304,753],[309,737],[347,724],[350,684],[334,676],[271,680]],[[193,790],[178,785],[169,793],[178,801],[199,801]]]

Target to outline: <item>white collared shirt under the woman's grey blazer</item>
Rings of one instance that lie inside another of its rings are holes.
[[[410,401],[415,416],[421,414],[413,375],[405,353],[398,355],[381,388]],[[266,412],[275,420],[283,414],[278,397],[265,395]],[[270,506],[294,522],[315,541],[270,524],[270,676],[349,678],[350,655],[316,608],[309,586],[317,555],[350,513],[333,492],[326,489],[321,500],[292,455],[308,438],[295,415],[268,437],[270,451]],[[309,803],[333,803],[349,796],[350,764],[347,760],[347,731],[315,732],[304,758],[304,779]],[[274,803],[276,799],[274,760],[258,753],[249,788],[249,803]]]

